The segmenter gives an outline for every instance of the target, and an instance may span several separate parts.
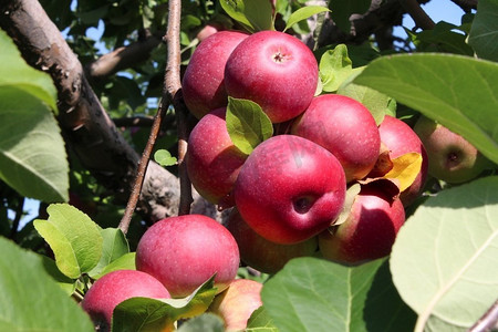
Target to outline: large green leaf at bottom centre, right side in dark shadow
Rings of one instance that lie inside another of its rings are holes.
[[[297,258],[269,279],[263,305],[281,331],[411,331],[415,317],[391,282],[386,260],[345,267]]]

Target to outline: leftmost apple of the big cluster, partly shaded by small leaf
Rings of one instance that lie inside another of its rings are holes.
[[[196,190],[208,201],[232,206],[230,193],[247,159],[230,139],[225,121],[226,108],[206,114],[188,138],[186,165]]]

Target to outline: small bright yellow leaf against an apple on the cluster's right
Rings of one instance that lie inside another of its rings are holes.
[[[397,180],[400,191],[403,191],[413,184],[421,172],[422,155],[419,153],[407,153],[392,162],[393,168],[384,177]]]

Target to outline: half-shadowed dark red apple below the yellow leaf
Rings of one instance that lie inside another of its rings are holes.
[[[346,264],[385,257],[404,221],[400,198],[392,199],[378,188],[362,188],[347,219],[319,235],[320,251],[323,258]]]

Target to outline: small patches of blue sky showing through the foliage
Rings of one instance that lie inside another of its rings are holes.
[[[424,4],[423,8],[436,23],[439,21],[446,21],[448,23],[459,25],[460,18],[464,14],[464,11],[450,0],[432,0],[427,4]],[[408,29],[412,29],[414,27],[414,21],[412,20],[412,18],[409,18],[409,15],[405,15],[403,25]],[[102,33],[103,24],[100,24],[98,28],[89,29],[86,32],[86,34],[93,39],[100,38]],[[395,33],[403,37],[405,35],[405,32],[401,27],[395,29]],[[33,217],[35,217],[38,215],[38,200],[27,199],[24,204],[24,210],[28,216],[23,218],[23,221],[31,220]]]

